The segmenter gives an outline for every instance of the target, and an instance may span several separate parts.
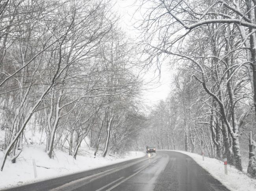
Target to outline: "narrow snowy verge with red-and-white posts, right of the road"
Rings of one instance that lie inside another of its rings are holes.
[[[208,171],[214,178],[219,180],[230,191],[253,191],[256,190],[256,180],[250,178],[245,172],[238,171],[232,166],[228,165],[228,175],[224,174],[224,162],[215,158],[204,157],[189,153],[185,151],[176,151],[184,153],[197,162],[201,167]]]

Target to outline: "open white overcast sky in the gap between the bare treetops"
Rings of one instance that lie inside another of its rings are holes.
[[[132,37],[138,36],[136,33],[139,33],[133,26],[134,24],[134,12],[138,8],[134,2],[136,0],[116,0],[116,4],[114,6],[115,9],[120,14],[122,28],[126,33]],[[139,19],[139,14],[136,14],[135,18]],[[141,17],[142,19],[142,17]],[[153,71],[149,71],[145,76],[145,80],[149,81],[150,78],[156,77],[157,74],[154,74]],[[168,64],[162,64],[161,66],[161,78],[160,80],[157,78],[155,80],[155,85],[151,85],[149,90],[145,91],[143,99],[145,102],[149,102],[149,104],[154,104],[159,100],[165,100],[167,98],[169,92],[171,91],[171,70],[169,69]],[[159,82],[158,82],[159,80]]]

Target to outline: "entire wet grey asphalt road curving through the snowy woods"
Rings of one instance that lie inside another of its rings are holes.
[[[37,182],[9,191],[228,191],[189,156],[157,151],[107,167]]]

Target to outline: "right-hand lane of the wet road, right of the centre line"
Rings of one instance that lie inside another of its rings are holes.
[[[192,158],[182,153],[157,151],[153,162],[144,171],[111,190],[228,191]]]

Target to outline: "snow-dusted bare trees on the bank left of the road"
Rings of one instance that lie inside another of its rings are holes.
[[[22,152],[28,128],[46,134],[50,158],[56,147],[76,158],[85,136],[95,155],[99,146],[103,156],[125,146],[134,131],[128,121],[139,117],[140,65],[111,6],[0,0],[1,171]]]

